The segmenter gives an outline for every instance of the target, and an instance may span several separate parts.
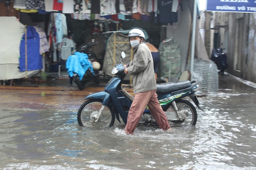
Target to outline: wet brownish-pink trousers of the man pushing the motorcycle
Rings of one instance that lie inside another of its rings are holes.
[[[166,130],[170,127],[166,114],[157,99],[156,90],[151,90],[135,94],[125,126],[125,132],[127,134],[133,134],[146,106],[149,106],[150,113],[156,120],[160,129]]]

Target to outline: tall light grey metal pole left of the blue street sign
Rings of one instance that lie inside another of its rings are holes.
[[[197,15],[197,0],[194,0],[192,46],[191,46],[191,61],[190,61],[190,73],[191,73],[190,81],[193,80],[193,70],[194,70],[195,38],[196,38],[196,15]]]

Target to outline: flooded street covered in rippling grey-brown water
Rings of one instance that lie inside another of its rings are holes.
[[[78,125],[83,98],[104,87],[0,86],[0,169],[254,170],[256,89],[229,74],[219,82],[218,93],[199,96],[196,126],[138,126],[135,135],[117,121]]]

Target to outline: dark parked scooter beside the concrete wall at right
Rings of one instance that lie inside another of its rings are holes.
[[[227,55],[223,52],[225,48],[212,49],[211,60],[218,67],[219,74],[224,75],[224,70],[228,68]]]

